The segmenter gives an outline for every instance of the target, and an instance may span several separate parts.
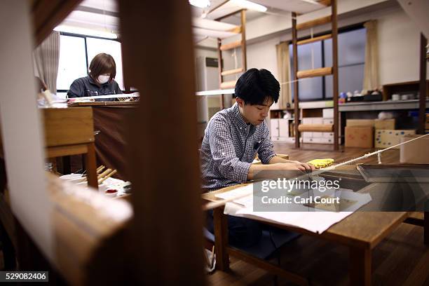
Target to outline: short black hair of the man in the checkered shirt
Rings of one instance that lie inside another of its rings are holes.
[[[235,93],[245,104],[264,104],[268,97],[277,102],[280,84],[266,69],[248,69],[238,79]]]

